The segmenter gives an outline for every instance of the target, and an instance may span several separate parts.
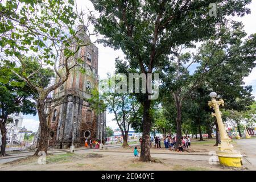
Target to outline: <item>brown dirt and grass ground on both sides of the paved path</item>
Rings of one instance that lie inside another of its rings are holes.
[[[208,154],[211,150],[217,150],[217,147],[213,147],[214,140],[207,140],[204,142],[192,141],[192,151],[189,154]],[[151,148],[152,153],[174,153],[174,154],[188,154],[187,152],[175,152],[166,150],[163,148]],[[134,147],[130,148],[107,148],[108,154],[102,154],[104,152],[91,152],[88,154],[59,154],[48,155],[46,157],[46,164],[38,164],[39,157],[31,156],[28,158],[18,159],[13,162],[0,164],[0,170],[164,170],[164,171],[176,171],[176,170],[189,170],[189,171],[202,171],[202,170],[233,170],[230,168],[221,167],[219,164],[209,165],[208,161],[197,160],[182,160],[182,159],[163,159],[155,158],[157,162],[139,162],[139,158],[134,156],[122,156],[122,155],[109,155],[109,151],[119,152],[133,152]],[[139,148],[139,146],[138,146]]]

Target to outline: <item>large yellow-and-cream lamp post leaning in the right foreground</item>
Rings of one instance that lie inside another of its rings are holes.
[[[224,106],[224,101],[220,99],[217,101],[215,97],[217,93],[211,92],[210,97],[211,101],[208,101],[208,105],[210,108],[213,107],[215,113],[212,113],[214,117],[217,119],[218,129],[220,130],[220,138],[221,143],[218,144],[219,150],[217,151],[218,160],[220,164],[228,167],[241,167],[242,166],[242,155],[240,151],[234,150],[233,145],[229,142],[228,134],[226,133],[224,123],[221,118],[220,105]]]

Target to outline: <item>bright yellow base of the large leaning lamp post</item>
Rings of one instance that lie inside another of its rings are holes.
[[[239,151],[217,151],[217,156],[222,166],[242,167],[242,155]]]

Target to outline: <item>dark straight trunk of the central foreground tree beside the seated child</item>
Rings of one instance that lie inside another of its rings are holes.
[[[150,104],[147,94],[143,101],[143,123],[142,123],[142,145],[140,159],[143,162],[151,161],[150,155],[150,130],[151,130],[151,117],[150,117]]]

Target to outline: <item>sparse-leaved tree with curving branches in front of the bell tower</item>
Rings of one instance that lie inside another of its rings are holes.
[[[77,12],[73,0],[5,1],[0,4],[0,9],[0,61],[36,93],[40,134],[35,155],[39,151],[47,153],[47,118],[54,107],[65,99],[47,100],[47,97],[68,80],[73,68],[80,71],[77,66],[84,57],[78,57],[77,52],[81,47],[92,44],[81,39],[81,30],[85,30],[89,37],[92,35],[85,28],[90,24],[90,14],[85,24],[85,14]],[[78,30],[74,27],[76,23],[82,25]],[[33,77],[48,65],[53,67],[56,82],[42,85],[42,82],[34,81]],[[17,69],[19,66],[22,69]],[[51,103],[47,104],[49,101]],[[46,108],[47,105],[50,107]]]

